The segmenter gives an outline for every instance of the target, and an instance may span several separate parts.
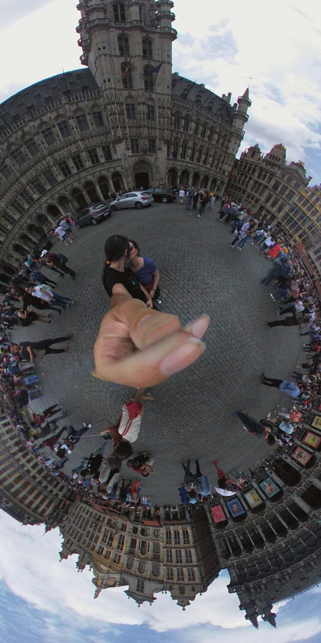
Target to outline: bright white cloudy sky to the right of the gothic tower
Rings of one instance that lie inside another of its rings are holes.
[[[230,0],[227,6],[216,3],[213,11],[211,0],[203,0],[195,16],[192,0],[175,1],[174,26],[182,35],[174,44],[175,71],[197,77],[218,95],[232,91],[232,103],[252,77],[252,107],[241,151],[258,142],[266,152],[282,142],[288,161],[297,161],[320,149],[321,35],[315,26],[321,10],[312,3],[304,7],[304,14],[301,6],[298,0],[270,0],[265,5]],[[211,53],[217,39],[221,56],[216,50],[214,56]],[[227,54],[229,42],[232,57]],[[316,169],[313,156],[311,162]]]

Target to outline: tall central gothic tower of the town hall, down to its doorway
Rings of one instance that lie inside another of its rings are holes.
[[[171,43],[177,37],[171,28],[173,6],[171,0],[78,4],[80,60],[103,95],[113,156],[123,162],[126,190],[157,185],[165,177],[171,138]]]

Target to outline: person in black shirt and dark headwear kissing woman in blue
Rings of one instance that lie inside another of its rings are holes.
[[[106,266],[103,271],[103,285],[111,297],[112,294],[127,294],[134,299],[140,299],[148,308],[153,308],[153,302],[146,288],[139,283],[129,267],[130,253],[134,246],[126,237],[112,235],[105,243]]]

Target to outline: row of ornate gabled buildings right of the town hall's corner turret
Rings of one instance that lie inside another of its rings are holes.
[[[287,164],[281,143],[265,156],[256,144],[241,154],[233,169],[229,195],[267,224],[279,226],[291,244],[302,244],[320,273],[321,188],[308,187],[311,176],[306,176],[302,161]]]

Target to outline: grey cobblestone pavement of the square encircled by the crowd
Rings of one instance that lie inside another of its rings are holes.
[[[38,362],[46,379],[43,395],[32,403],[33,410],[59,400],[69,412],[70,422],[80,428],[91,422],[89,434],[99,431],[100,421],[114,423],[121,401],[133,395],[124,386],[107,384],[91,375],[92,347],[101,318],[108,309],[108,296],[101,282],[103,247],[111,234],[134,238],[141,252],[152,257],[160,270],[160,309],[178,315],[182,324],[209,313],[211,325],[205,336],[207,348],[198,361],[165,383],[152,389],[154,401],[146,403],[139,439],[134,453],[153,453],[155,473],[142,480],[144,493],[153,502],[177,503],[182,482],[180,462],[198,458],[202,473],[216,483],[213,460],[224,471],[245,469],[268,453],[264,440],[247,435],[241,422],[232,417],[247,409],[261,419],[280,403],[290,406],[288,395],[260,384],[265,370],[271,377],[288,377],[300,355],[297,327],[268,329],[266,320],[275,319],[277,305],[270,288],[260,280],[270,262],[258,257],[248,243],[239,253],[230,248],[230,227],[218,222],[218,205],[202,219],[184,205],[156,204],[143,210],[120,210],[98,226],[78,231],[68,248],[58,242],[56,249],[69,257],[76,270],[73,282],[68,275],[60,280],[57,292],[73,296],[77,305],[61,316],[53,312],[48,327],[33,325],[15,331],[15,339],[35,340],[72,332],[69,352],[46,356]],[[48,272],[55,279],[54,273]],[[100,437],[82,439],[64,471],[70,473],[82,456],[101,444]],[[127,467],[123,467],[128,478]]]

